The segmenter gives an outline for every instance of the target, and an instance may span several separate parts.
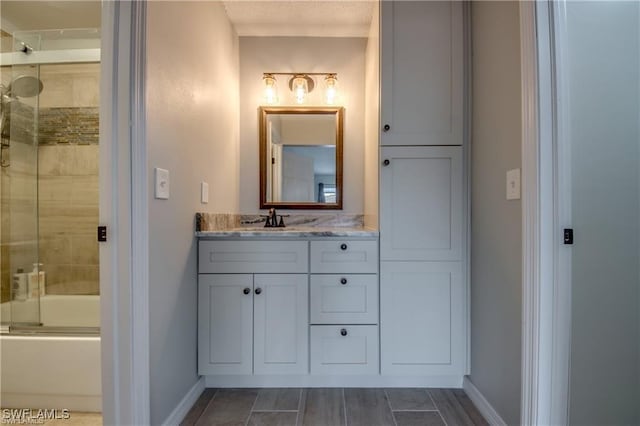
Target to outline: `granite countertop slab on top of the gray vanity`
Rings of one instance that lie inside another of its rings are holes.
[[[196,232],[198,238],[310,238],[310,237],[377,237],[379,232],[365,227],[290,226],[286,228],[238,227]]]

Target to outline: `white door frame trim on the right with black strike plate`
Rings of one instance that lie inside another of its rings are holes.
[[[567,424],[570,352],[570,204],[566,149],[558,126],[567,105],[556,75],[565,40],[564,0],[520,2],[522,72],[521,424]],[[560,96],[558,95],[560,93]],[[561,166],[559,166],[561,164]]]

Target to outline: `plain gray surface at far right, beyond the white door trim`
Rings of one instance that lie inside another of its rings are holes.
[[[566,12],[570,424],[640,424],[640,5]]]

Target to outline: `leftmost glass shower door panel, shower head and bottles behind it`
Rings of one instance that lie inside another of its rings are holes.
[[[16,63],[2,66],[0,263],[2,323],[40,324],[38,263],[39,67],[21,65],[38,37],[14,36]]]

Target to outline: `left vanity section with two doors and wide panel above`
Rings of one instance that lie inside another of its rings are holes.
[[[200,241],[198,374],[307,373],[307,246]]]

